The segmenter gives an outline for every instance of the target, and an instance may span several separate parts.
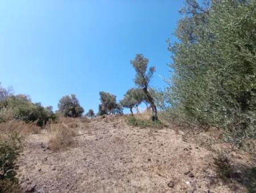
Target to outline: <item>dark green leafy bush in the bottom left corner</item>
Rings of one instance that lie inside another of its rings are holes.
[[[0,192],[19,190],[16,160],[22,151],[22,138],[17,133],[0,136]]]

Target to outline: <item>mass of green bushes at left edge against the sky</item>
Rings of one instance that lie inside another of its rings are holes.
[[[6,121],[8,114],[14,119],[36,121],[39,126],[54,119],[52,107],[44,108],[40,103],[32,103],[26,95],[10,95],[0,101],[0,121]]]

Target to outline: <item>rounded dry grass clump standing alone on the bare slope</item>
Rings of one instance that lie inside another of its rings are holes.
[[[64,124],[49,124],[47,127],[49,133],[48,147],[53,151],[67,149],[74,142],[73,136],[76,136],[76,130],[68,128]]]

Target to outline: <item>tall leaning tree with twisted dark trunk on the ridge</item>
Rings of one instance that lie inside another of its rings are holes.
[[[134,83],[143,90],[146,99],[152,108],[152,120],[156,121],[158,120],[158,111],[156,109],[154,99],[148,91],[148,86],[155,72],[155,67],[152,66],[147,70],[148,62],[148,59],[145,58],[143,54],[137,54],[135,59],[131,60],[131,65],[133,65],[136,72]]]

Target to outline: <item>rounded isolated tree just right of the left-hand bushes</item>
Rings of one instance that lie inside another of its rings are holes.
[[[80,106],[75,94],[63,96],[58,104],[59,112],[64,116],[77,118],[82,116],[84,109]]]

